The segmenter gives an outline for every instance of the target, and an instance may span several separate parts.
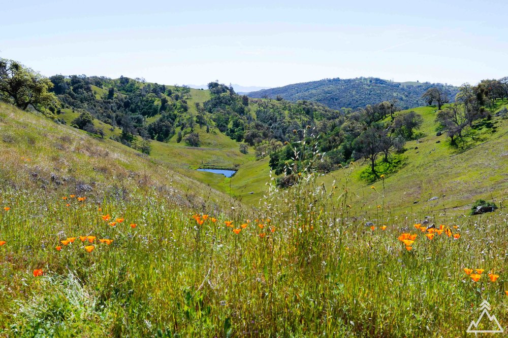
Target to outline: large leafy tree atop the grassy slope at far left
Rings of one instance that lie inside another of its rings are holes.
[[[53,83],[38,72],[13,60],[0,58],[0,100],[26,110],[32,106],[45,111],[49,106],[59,106],[54,93],[49,92]]]

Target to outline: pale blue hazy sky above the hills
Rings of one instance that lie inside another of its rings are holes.
[[[0,57],[45,76],[264,87],[508,76],[506,0],[0,3]]]

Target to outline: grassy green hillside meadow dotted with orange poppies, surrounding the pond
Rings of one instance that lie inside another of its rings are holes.
[[[490,191],[506,203],[506,121],[455,151],[419,109],[424,135],[384,181],[356,164],[269,191],[268,159],[224,135],[148,157],[0,104],[0,334],[455,337],[482,299],[506,328],[506,209],[466,214]],[[217,161],[237,174],[191,169]]]

